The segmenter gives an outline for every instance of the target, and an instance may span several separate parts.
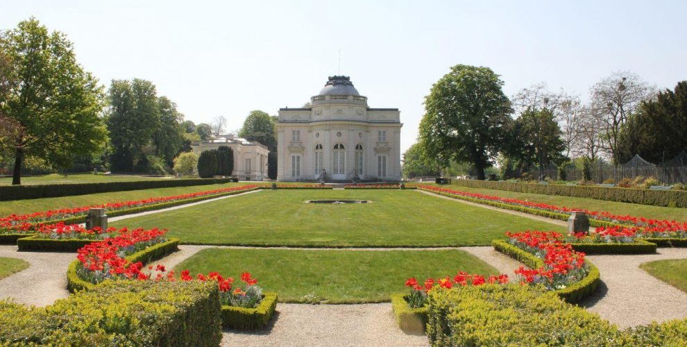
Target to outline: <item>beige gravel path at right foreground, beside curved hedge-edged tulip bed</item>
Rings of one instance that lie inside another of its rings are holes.
[[[639,268],[643,262],[683,258],[687,258],[687,248],[659,248],[656,254],[643,255],[588,255],[603,283],[581,305],[622,328],[684,319],[687,293]]]

